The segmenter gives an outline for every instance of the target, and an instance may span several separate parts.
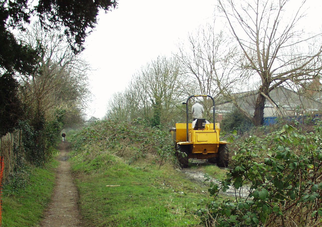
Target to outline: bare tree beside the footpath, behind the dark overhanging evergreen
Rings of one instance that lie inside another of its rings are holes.
[[[41,46],[43,50],[39,70],[28,78],[21,77],[27,91],[26,106],[44,114],[47,120],[57,114],[80,115],[89,97],[88,63],[75,55],[64,36],[56,31],[44,31],[34,24],[21,38],[24,43]]]

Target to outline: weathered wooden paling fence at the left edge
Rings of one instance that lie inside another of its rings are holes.
[[[8,180],[10,173],[14,170],[17,161],[17,152],[21,152],[21,134],[21,130],[15,130],[13,133],[7,133],[0,139],[0,156],[3,156],[5,164],[3,172],[4,182]]]

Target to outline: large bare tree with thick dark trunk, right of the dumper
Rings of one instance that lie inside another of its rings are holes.
[[[312,79],[321,70],[321,44],[312,43],[321,33],[308,34],[298,28],[304,17],[305,0],[291,15],[289,0],[218,0],[232,36],[245,56],[242,68],[260,79],[253,123],[263,123],[266,100],[279,108],[269,96],[279,86],[294,87]],[[290,16],[288,16],[290,15]]]

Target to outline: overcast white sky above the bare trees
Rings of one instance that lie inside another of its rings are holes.
[[[298,0],[292,0],[298,2]],[[93,101],[88,117],[102,118],[111,95],[122,91],[132,75],[159,55],[170,56],[179,39],[213,21],[215,0],[118,0],[118,8],[99,15],[86,39],[83,55],[90,63]],[[307,26],[321,29],[322,7],[308,0]]]

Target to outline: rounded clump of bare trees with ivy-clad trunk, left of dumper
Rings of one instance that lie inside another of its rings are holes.
[[[119,109],[122,106],[127,109],[127,119],[142,117],[155,121],[155,125],[169,123],[178,112],[175,105],[182,102],[178,98],[178,89],[182,87],[184,78],[179,71],[180,65],[175,57],[152,60],[133,75],[122,94],[113,96],[109,102],[108,116],[117,116],[118,112],[122,115],[123,110]],[[120,99],[122,105],[118,105]]]

